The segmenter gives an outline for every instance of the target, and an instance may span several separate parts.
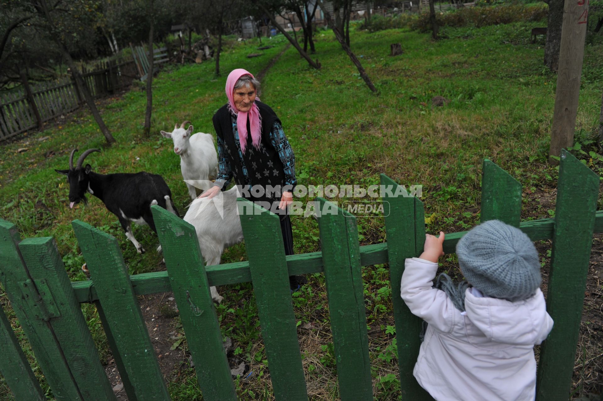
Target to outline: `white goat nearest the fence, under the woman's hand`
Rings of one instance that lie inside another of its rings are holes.
[[[237,195],[236,186],[233,186],[212,199],[195,199],[186,211],[184,219],[195,227],[201,254],[208,266],[219,265],[224,248],[243,241],[241,220],[236,210]],[[214,301],[222,302],[223,297],[215,286],[210,291]]]

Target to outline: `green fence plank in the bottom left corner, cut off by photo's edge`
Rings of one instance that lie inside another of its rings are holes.
[[[4,310],[0,306],[0,373],[4,376],[15,400],[45,401],[36,376],[14,336]]]

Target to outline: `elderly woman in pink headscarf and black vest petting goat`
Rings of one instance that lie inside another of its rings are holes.
[[[295,156],[280,119],[257,97],[259,86],[259,81],[244,69],[230,72],[226,80],[228,103],[213,115],[218,177],[215,185],[199,197],[214,197],[235,178],[245,198],[280,215],[285,254],[289,255],[293,254],[293,235],[286,209],[297,182]],[[305,279],[298,276],[289,281],[291,289],[297,289]]]

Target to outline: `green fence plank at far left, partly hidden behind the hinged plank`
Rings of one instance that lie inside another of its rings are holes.
[[[81,401],[80,391],[71,375],[63,352],[52,332],[48,321],[40,318],[38,301],[41,299],[36,289],[28,293],[26,300],[22,288],[31,280],[17,243],[21,241],[16,227],[0,219],[0,282],[7,292],[13,311],[36,354],[36,360],[42,368],[52,393],[57,401]],[[31,281],[30,281],[31,282]],[[31,302],[28,300],[31,299]]]

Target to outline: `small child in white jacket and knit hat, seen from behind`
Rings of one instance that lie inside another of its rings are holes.
[[[441,274],[438,289],[443,241],[443,232],[427,235],[425,251],[406,259],[402,274],[402,299],[428,323],[415,378],[437,401],[534,400],[534,344],[553,326],[534,244],[500,221],[480,224],[456,245],[468,284]]]

